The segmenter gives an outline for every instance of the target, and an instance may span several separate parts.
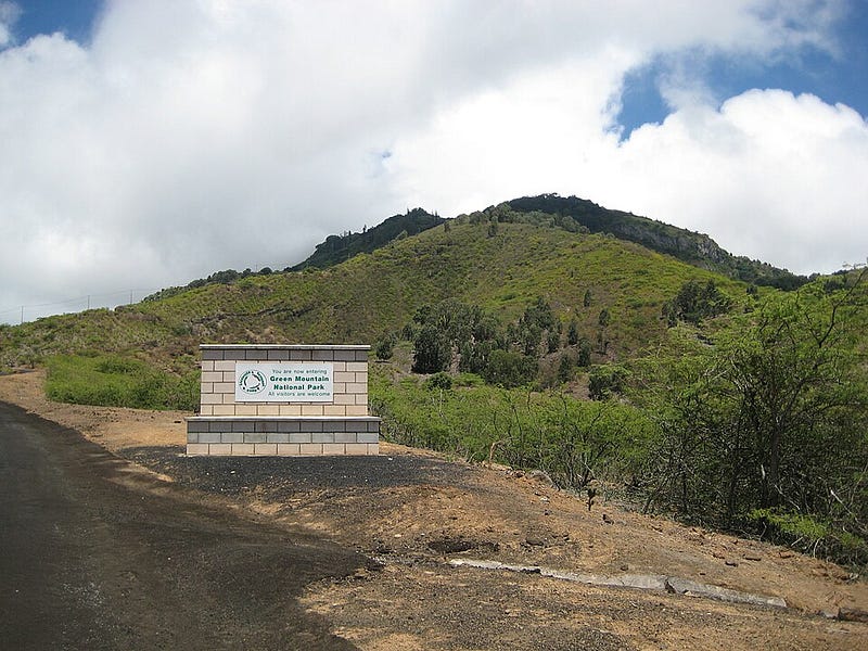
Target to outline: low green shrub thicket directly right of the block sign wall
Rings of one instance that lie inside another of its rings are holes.
[[[563,487],[629,476],[641,468],[647,439],[654,436],[653,423],[637,409],[562,394],[477,383],[433,393],[376,373],[370,395],[390,441],[540,469]]]

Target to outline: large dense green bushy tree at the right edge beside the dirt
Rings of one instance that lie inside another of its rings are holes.
[[[662,433],[649,506],[728,526],[762,513],[767,535],[865,562],[865,278],[769,296],[714,346],[637,365]]]

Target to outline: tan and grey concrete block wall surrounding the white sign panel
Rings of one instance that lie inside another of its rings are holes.
[[[201,406],[187,421],[191,456],[376,455],[380,419],[368,414],[370,346],[203,344]],[[332,399],[235,401],[235,365],[329,362]]]

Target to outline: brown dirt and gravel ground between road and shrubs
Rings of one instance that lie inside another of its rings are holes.
[[[187,414],[53,404],[42,381],[39,371],[2,376],[0,400],[214,503],[373,559],[371,570],[314,584],[302,598],[361,649],[868,648],[868,623],[832,618],[840,609],[868,610],[868,583],[781,547],[600,498],[589,509],[539,477],[390,444],[367,460],[187,458]],[[787,608],[679,593],[668,584],[599,585],[646,576],[780,598]]]

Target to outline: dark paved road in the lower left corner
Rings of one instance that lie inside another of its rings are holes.
[[[352,649],[296,599],[363,564],[0,403],[0,648]]]

